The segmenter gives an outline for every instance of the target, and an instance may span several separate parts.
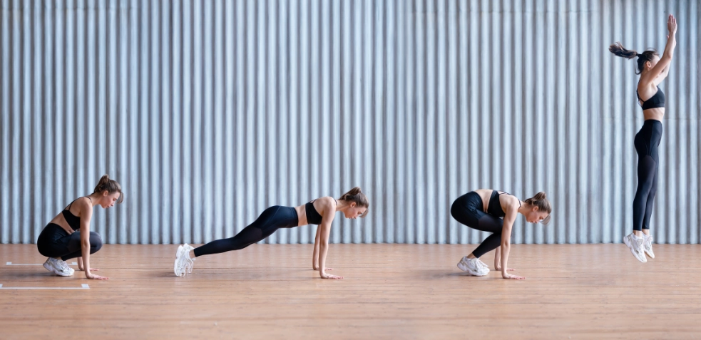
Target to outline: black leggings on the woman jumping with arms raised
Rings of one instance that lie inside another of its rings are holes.
[[[657,193],[657,172],[660,155],[657,147],[662,140],[662,122],[645,120],[643,128],[635,135],[638,151],[638,190],[633,199],[633,230],[650,229],[650,216]]]

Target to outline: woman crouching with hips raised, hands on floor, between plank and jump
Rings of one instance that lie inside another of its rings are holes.
[[[501,270],[501,277],[526,279],[508,274],[513,269],[506,267],[508,252],[511,248],[513,221],[520,213],[528,222],[548,224],[551,211],[550,201],[546,198],[545,192],[538,192],[526,201],[521,201],[506,192],[491,189],[475,190],[458,197],[450,209],[453,218],[472,229],[493,232],[471,254],[458,262],[458,268],[478,277],[484,276],[489,272],[489,268],[479,258],[496,249],[494,269]]]

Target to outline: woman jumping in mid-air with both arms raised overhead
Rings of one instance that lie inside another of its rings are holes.
[[[672,14],[667,18],[667,46],[662,58],[657,51],[648,50],[638,53],[627,50],[620,43],[614,43],[608,49],[616,56],[632,59],[638,57],[638,103],[643,107],[645,123],[635,135],[635,151],[638,152],[638,190],[633,198],[633,232],[623,237],[623,242],[630,248],[636,259],[648,262],[645,254],[655,258],[653,237],[650,236],[650,216],[657,193],[657,173],[660,155],[657,148],[662,140],[662,118],[665,116],[665,93],[657,86],[670,72],[670,63],[677,46],[677,19]]]

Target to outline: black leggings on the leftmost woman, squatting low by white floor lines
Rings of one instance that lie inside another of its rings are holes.
[[[46,257],[61,257],[63,261],[83,256],[81,249],[81,231],[68,234],[60,225],[49,223],[41,230],[36,240],[39,254]],[[90,253],[94,254],[102,248],[102,238],[97,232],[90,232]]]

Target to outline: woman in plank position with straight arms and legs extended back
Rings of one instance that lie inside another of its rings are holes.
[[[187,243],[178,246],[178,251],[175,252],[173,271],[179,277],[184,276],[192,272],[195,257],[243,249],[260,242],[280,228],[319,225],[317,236],[314,238],[312,268],[319,270],[319,276],[322,279],[343,279],[343,277],[326,273],[326,270],[330,270],[326,267],[326,254],[329,249],[331,224],[334,222],[336,212],[339,211],[343,212],[346,218],[365,217],[369,205],[370,203],[365,194],[361,192],[360,187],[354,187],[338,200],[327,196],[298,207],[282,207],[280,205],[269,207],[263,210],[255,222],[245,227],[234,237],[218,239],[198,248],[193,248]],[[193,257],[190,257],[190,251],[193,251]]]

